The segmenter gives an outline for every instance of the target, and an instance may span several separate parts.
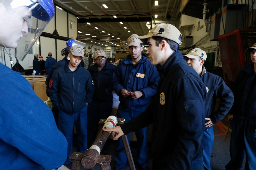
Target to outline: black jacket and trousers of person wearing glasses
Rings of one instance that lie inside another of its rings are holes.
[[[91,73],[95,91],[92,102],[88,106],[88,146],[92,144],[95,126],[98,127],[100,119],[106,119],[112,112],[113,104],[113,72],[116,66],[106,61],[105,66],[99,71],[97,64],[88,68]]]

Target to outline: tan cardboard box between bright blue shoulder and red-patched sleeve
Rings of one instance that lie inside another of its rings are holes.
[[[46,101],[48,96],[46,95],[46,84],[45,80],[37,80],[33,81],[34,84],[34,91],[36,95],[42,99],[42,101]]]

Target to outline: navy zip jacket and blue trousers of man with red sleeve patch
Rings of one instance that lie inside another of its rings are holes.
[[[94,87],[91,74],[79,66],[72,72],[65,66],[56,69],[49,83],[49,95],[54,107],[59,110],[59,130],[68,141],[68,154],[65,164],[69,164],[72,154],[73,127],[76,126],[78,152],[87,150],[87,103],[92,100]]]

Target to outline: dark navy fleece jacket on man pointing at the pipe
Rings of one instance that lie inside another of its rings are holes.
[[[127,134],[153,123],[152,169],[192,169],[203,151],[205,85],[180,51],[157,70],[163,76],[153,102],[121,128]]]

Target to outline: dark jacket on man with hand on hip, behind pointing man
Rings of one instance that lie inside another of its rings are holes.
[[[204,82],[207,90],[205,101],[205,117],[210,117],[212,123],[216,124],[222,120],[223,117],[225,117],[225,115],[231,109],[234,102],[233,93],[220,76],[207,72],[204,66],[203,73],[200,78]],[[220,99],[220,103],[218,110],[214,112],[217,98]],[[208,121],[209,120],[205,120],[205,122]],[[205,129],[212,127],[213,126],[205,127]]]

